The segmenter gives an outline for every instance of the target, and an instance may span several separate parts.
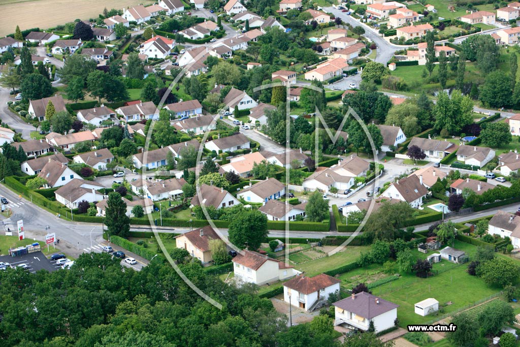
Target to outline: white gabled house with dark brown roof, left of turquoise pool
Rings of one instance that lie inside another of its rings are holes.
[[[397,179],[386,189],[382,196],[406,201],[414,209],[422,206],[422,200],[426,197],[428,189],[422,184],[422,177],[415,175]]]

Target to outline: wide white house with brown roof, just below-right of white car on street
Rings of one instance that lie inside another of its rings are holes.
[[[186,184],[184,178],[168,178],[145,182],[142,179],[130,183],[135,194],[147,197],[153,201],[164,199],[174,200],[183,194],[183,186]]]

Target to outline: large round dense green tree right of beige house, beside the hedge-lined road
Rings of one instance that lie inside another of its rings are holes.
[[[229,223],[229,241],[240,248],[256,251],[267,234],[267,217],[257,210],[242,211]]]

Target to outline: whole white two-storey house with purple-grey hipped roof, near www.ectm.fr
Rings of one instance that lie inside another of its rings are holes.
[[[346,325],[354,330],[367,331],[372,322],[375,333],[395,326],[397,307],[399,307],[393,302],[364,291],[352,294],[332,305],[334,305],[334,325]]]

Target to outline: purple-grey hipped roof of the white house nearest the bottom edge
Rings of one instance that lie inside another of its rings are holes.
[[[379,304],[376,303],[376,300],[379,300]],[[372,319],[399,307],[399,305],[393,302],[383,300],[364,291],[355,294],[354,299],[348,297],[336,301],[333,305],[367,319]]]

